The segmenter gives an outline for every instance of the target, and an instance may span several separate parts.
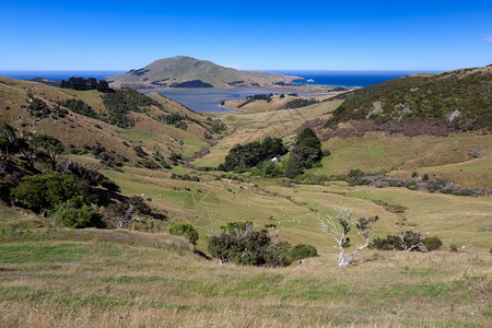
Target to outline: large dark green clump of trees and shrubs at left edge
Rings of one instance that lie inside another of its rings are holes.
[[[20,133],[0,122],[0,199],[69,227],[112,225],[112,209],[128,220],[152,215],[141,198],[120,195],[117,184],[74,161],[60,163],[62,143],[48,134]]]

